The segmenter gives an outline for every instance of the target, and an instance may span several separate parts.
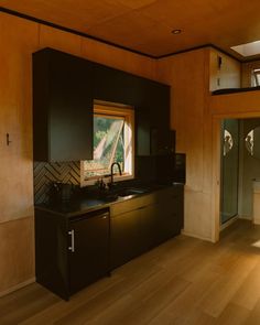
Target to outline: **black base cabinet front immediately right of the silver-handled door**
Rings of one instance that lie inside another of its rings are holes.
[[[140,254],[140,209],[111,218],[111,269]]]

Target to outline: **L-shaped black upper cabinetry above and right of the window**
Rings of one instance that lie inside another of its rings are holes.
[[[129,105],[136,112],[137,155],[170,147],[170,86],[105,65],[95,66],[95,99]]]

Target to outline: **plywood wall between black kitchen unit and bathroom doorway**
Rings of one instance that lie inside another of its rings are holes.
[[[186,153],[184,232],[212,239],[212,119],[208,111],[209,50],[158,63],[158,78],[172,85],[171,127],[176,151]]]

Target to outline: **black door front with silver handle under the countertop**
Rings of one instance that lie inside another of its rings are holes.
[[[71,221],[71,294],[109,271],[109,216],[80,217]]]

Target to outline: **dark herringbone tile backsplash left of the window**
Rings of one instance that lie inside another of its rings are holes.
[[[52,182],[80,184],[80,162],[45,163],[34,162],[34,202],[46,202]]]

